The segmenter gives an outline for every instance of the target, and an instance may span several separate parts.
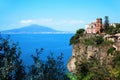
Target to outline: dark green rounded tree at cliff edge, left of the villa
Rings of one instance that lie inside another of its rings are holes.
[[[74,36],[72,36],[70,39],[70,45],[78,43],[79,38],[83,36],[84,31],[85,31],[84,29],[77,30],[76,34]]]

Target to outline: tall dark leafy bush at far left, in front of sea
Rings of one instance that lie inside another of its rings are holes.
[[[0,36],[0,80],[23,80],[25,69],[20,59],[20,48],[9,36]]]

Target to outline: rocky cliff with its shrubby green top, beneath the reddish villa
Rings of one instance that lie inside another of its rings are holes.
[[[78,39],[78,42],[72,44],[72,56],[68,62],[67,68],[70,72],[76,72],[76,62],[79,64],[84,60],[89,60],[90,57],[98,57],[101,64],[104,59],[109,58],[112,53],[111,48],[116,49],[120,43],[119,36],[98,34],[83,34]],[[116,39],[116,40],[115,40]],[[115,44],[117,46],[115,46]],[[114,47],[114,46],[115,47]],[[108,62],[110,59],[108,59]]]

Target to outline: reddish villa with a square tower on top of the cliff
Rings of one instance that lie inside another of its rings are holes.
[[[100,33],[102,28],[102,18],[97,18],[96,22],[86,25],[87,33]]]

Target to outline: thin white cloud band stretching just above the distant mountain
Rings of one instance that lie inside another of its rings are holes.
[[[68,25],[76,25],[76,24],[83,24],[84,21],[82,20],[53,20],[51,18],[45,19],[28,19],[28,20],[21,20],[21,24],[68,24]]]

